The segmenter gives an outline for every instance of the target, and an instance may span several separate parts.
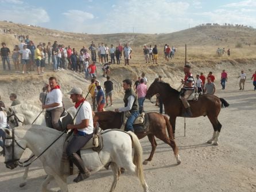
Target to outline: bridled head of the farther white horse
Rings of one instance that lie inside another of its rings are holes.
[[[7,123],[11,128],[22,126],[24,122],[24,116],[19,113],[15,113],[11,107],[6,108],[5,112],[7,115]]]

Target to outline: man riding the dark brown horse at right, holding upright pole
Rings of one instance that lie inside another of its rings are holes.
[[[187,101],[188,97],[195,91],[195,80],[191,73],[191,66],[186,64],[184,66],[185,78],[181,80],[183,88],[180,91],[180,99],[185,107],[184,117],[192,117],[191,107]]]

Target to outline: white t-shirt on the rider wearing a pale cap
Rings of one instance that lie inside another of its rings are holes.
[[[76,111],[80,108],[77,107]],[[82,120],[84,119],[89,119],[89,125],[88,127],[82,128],[82,129],[77,129],[78,131],[83,131],[86,134],[92,134],[94,132],[94,121],[92,119],[92,109],[90,103],[88,101],[84,101],[82,107],[79,109],[77,116],[76,116],[76,123],[75,124],[80,124]]]

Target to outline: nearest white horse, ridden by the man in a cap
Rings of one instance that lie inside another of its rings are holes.
[[[18,166],[18,160],[20,160],[25,148],[29,148],[33,154],[39,156],[53,140],[60,136],[59,131],[38,125],[14,128],[13,132],[5,128],[3,128],[3,130],[6,133],[5,164],[9,169],[14,169]],[[43,192],[49,191],[47,185],[53,178],[62,192],[68,191],[68,175],[62,173],[63,164],[61,164],[63,145],[66,137],[67,134],[62,135],[60,139],[39,158],[46,174],[48,174],[48,177],[41,186],[41,191]],[[92,149],[81,151],[84,164],[88,170],[91,170],[91,174],[96,173],[111,162],[110,166],[113,170],[114,181],[110,191],[114,191],[117,186],[119,167],[123,167],[131,173],[137,174],[143,191],[149,191],[142,168],[142,147],[137,136],[130,131],[108,130],[103,132],[102,138],[103,148],[101,151],[96,152]],[[132,147],[134,148],[134,157],[132,155]],[[74,170],[74,174],[76,173],[78,173],[78,169]]]

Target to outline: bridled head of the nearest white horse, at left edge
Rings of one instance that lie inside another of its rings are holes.
[[[4,156],[5,164],[9,169],[14,169],[18,166],[18,162],[21,158],[21,155],[26,149],[25,140],[18,139],[14,135],[14,129],[1,128],[0,131],[5,133],[5,146],[4,146]]]

